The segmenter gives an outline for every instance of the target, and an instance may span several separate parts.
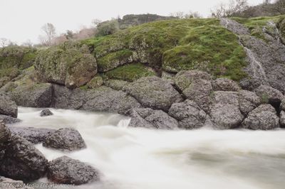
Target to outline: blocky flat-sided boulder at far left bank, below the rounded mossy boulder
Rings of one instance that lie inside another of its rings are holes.
[[[23,107],[49,107],[52,100],[52,86],[48,83],[29,86],[18,86],[11,92],[18,106]]]

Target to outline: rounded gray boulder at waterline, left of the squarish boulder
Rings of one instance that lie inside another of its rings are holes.
[[[207,119],[207,114],[191,100],[172,104],[168,114],[177,119],[183,129],[198,129],[204,126]]]

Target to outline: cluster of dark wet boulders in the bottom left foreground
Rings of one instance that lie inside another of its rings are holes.
[[[99,180],[99,172],[92,166],[67,156],[48,161],[34,144],[63,151],[86,148],[81,134],[71,128],[36,129],[6,126],[0,122],[0,185],[23,188],[23,181],[48,180],[59,184],[81,185]],[[12,180],[14,179],[14,180]],[[16,181],[22,180],[22,181]],[[1,187],[0,187],[1,188]]]

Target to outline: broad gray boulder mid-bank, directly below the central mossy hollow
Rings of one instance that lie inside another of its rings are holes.
[[[182,101],[180,93],[172,87],[170,82],[159,77],[142,77],[125,86],[124,90],[143,106],[162,109],[166,112],[171,104]]]

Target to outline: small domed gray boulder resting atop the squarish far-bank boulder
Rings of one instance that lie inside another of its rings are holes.
[[[220,91],[238,91],[240,90],[239,85],[237,85],[237,82],[234,82],[233,80],[229,80],[227,78],[218,78],[217,80],[214,80],[213,83],[214,90],[220,90]]]

